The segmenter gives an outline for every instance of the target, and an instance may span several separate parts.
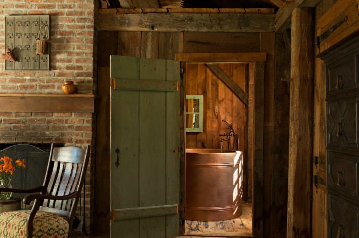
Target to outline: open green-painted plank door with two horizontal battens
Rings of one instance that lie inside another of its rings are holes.
[[[111,238],[179,235],[179,62],[111,56],[111,80]]]

